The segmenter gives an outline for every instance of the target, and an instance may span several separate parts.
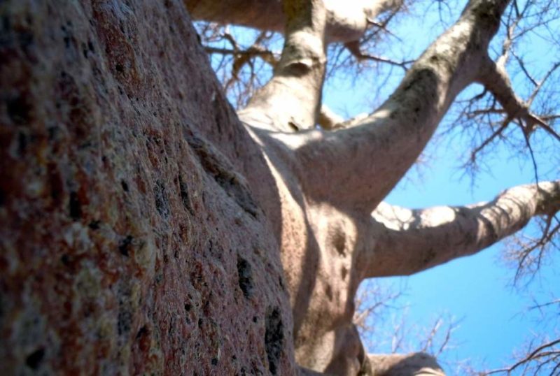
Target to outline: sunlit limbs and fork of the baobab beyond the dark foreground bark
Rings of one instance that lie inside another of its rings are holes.
[[[379,31],[386,27],[379,17],[388,13],[388,20],[402,10],[402,1],[265,1],[250,5],[228,1],[219,6],[214,1],[186,3],[197,19],[262,31],[253,45],[242,49],[230,34],[216,31],[216,26],[202,28],[211,30],[206,40],[221,38],[230,46],[207,47],[212,54],[232,56],[233,72],[225,82],[226,89],[239,80],[237,75],[244,64],[255,57],[274,66],[272,78],[264,87],[252,87],[253,73],[236,94],[241,122],[254,129],[265,150],[271,150],[267,155],[280,159],[270,157],[269,163],[274,168],[281,166],[287,186],[283,205],[298,208],[283,216],[281,250],[292,293],[296,359],[301,365],[341,375],[377,374],[395,366],[388,356],[368,358],[360,353],[363,350],[350,317],[356,289],[363,279],[410,275],[479,252],[518,231],[533,216],[547,217],[541,243],[547,243],[558,231],[557,225],[552,225],[559,210],[557,181],[512,187],[493,201],[465,207],[409,210],[382,202],[424,150],[456,96],[470,84],[482,85],[484,92],[466,101],[468,106],[487,94],[492,104],[463,109],[460,120],[478,117],[480,121],[483,116],[499,114],[498,124],[496,120],[482,121],[486,132],[491,131],[481,145],[473,148],[471,162],[508,126],[519,126],[527,142],[539,128],[558,139],[549,124],[555,115],[535,115],[531,110],[535,96],[557,64],[539,83],[535,82],[527,101],[514,92],[506,69],[514,53],[514,39],[526,32],[519,32],[519,23],[534,3],[470,1],[459,20],[414,64],[369,55],[360,46],[368,28]],[[542,12],[550,4],[540,6],[538,11]],[[489,44],[500,22],[507,29],[503,50],[492,59]],[[283,32],[285,41],[279,59],[266,48],[269,36],[265,31]],[[330,43],[342,44],[358,60],[405,68],[405,78],[370,115],[344,120],[321,103],[325,54]],[[246,104],[244,98],[248,99]],[[321,130],[316,129],[318,125]],[[297,166],[293,175],[286,173],[290,170],[286,164]],[[299,221],[293,219],[298,211]],[[293,223],[298,222],[298,229],[292,230]],[[298,239],[298,233],[302,238]],[[309,236],[316,243],[309,244]],[[302,244],[307,252],[298,252]],[[309,252],[316,256],[312,258]],[[519,259],[530,252],[525,249]],[[296,259],[297,254],[300,259]],[[307,265],[313,268],[312,282],[302,280],[310,271]],[[300,298],[306,283],[309,295]],[[335,324],[341,322],[344,324]],[[318,330],[321,327],[325,331]],[[406,363],[402,356],[395,356],[394,362]],[[397,368],[392,372],[402,372]]]

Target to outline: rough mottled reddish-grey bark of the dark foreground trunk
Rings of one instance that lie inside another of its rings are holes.
[[[0,13],[0,373],[294,373],[274,182],[183,3]]]

